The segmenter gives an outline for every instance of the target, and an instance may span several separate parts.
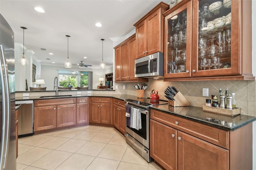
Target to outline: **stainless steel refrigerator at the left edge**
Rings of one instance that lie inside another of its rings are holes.
[[[16,170],[14,32],[0,14],[0,170]]]

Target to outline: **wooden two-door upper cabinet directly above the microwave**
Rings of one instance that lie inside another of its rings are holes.
[[[162,14],[168,9],[168,4],[160,2],[134,24],[137,40],[136,59],[156,52],[163,52],[164,18]]]

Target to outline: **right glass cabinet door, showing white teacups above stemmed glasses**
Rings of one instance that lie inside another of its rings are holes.
[[[195,0],[193,3],[192,77],[238,74],[236,52],[239,50],[235,41],[239,28],[231,29],[239,27],[238,21],[232,19],[238,11],[231,0]]]

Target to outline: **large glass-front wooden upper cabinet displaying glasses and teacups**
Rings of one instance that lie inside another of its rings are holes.
[[[164,13],[164,81],[255,79],[252,1],[217,3],[182,1]]]

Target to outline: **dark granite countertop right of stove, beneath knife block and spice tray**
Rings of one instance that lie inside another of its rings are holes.
[[[236,130],[253,121],[256,121],[256,117],[254,116],[238,115],[236,117],[230,117],[205,112],[203,111],[202,107],[194,106],[172,107],[169,105],[158,105],[150,108],[169,115],[174,115],[194,122],[202,123],[204,125],[210,125],[212,127],[217,127],[229,131]],[[210,118],[211,120],[207,121],[206,118]]]

